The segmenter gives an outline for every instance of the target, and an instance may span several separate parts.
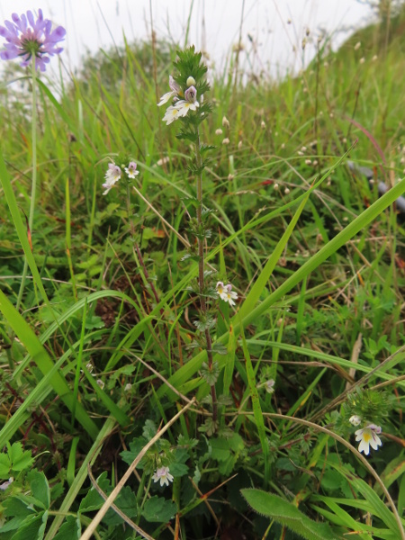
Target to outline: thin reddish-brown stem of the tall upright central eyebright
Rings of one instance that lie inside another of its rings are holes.
[[[200,133],[198,128],[195,128],[195,162],[198,168],[202,165],[201,151],[200,151]],[[199,202],[197,206],[197,229],[199,233],[202,230],[202,171],[197,175],[197,200]],[[200,237],[201,235],[199,235]],[[204,240],[203,238],[197,238],[198,243],[198,284],[200,288],[200,306],[202,315],[207,313],[207,304],[205,302],[205,297],[203,296],[204,292]],[[205,343],[207,347],[207,357],[208,357],[208,369],[212,371],[213,361],[212,361],[212,341],[210,330],[205,329]],[[217,405],[217,394],[215,392],[215,385],[211,385],[211,399],[212,399],[212,420],[213,422],[217,421],[218,418],[218,405]]]

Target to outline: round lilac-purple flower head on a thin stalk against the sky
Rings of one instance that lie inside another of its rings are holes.
[[[23,59],[23,67],[28,66],[31,59],[35,58],[35,67],[45,71],[49,56],[62,52],[63,49],[57,44],[64,40],[66,30],[62,26],[52,30],[51,21],[43,18],[41,9],[38,10],[36,21],[31,11],[20,16],[12,14],[12,19],[13,23],[5,21],[5,26],[0,26],[0,36],[6,41],[0,58],[12,60],[20,57]]]

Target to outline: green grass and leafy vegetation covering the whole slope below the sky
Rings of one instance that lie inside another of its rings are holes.
[[[196,164],[196,124],[157,107],[175,47],[40,76],[31,230],[31,71],[7,66],[1,538],[405,538],[404,25],[323,40],[281,82],[235,80],[237,53],[209,69]],[[103,196],[112,160],[139,175]]]

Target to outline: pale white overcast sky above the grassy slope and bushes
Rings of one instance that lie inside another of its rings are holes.
[[[320,28],[334,34],[336,47],[347,37],[342,28],[364,25],[372,15],[370,7],[358,0],[42,0],[40,5],[32,0],[0,0],[0,19],[41,7],[45,18],[66,28],[64,61],[73,69],[85,49],[121,44],[123,32],[128,40],[147,39],[150,9],[157,36],[183,43],[191,14],[188,42],[205,48],[220,69],[238,42],[243,5],[242,42],[254,67],[270,69],[273,75],[287,67],[302,67],[301,43],[307,29],[310,39],[319,35]],[[304,56],[311,59],[311,47]],[[52,64],[57,64],[55,59]]]

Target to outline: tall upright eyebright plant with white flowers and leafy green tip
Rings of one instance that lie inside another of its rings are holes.
[[[194,321],[197,329],[196,344],[194,347],[202,347],[207,353],[207,362],[202,364],[202,377],[211,387],[211,407],[212,418],[205,422],[202,427],[207,435],[211,435],[218,428],[218,401],[215,384],[220,370],[213,360],[211,331],[215,328],[215,305],[214,301],[220,298],[228,302],[230,306],[235,305],[238,294],[232,291],[232,285],[224,285],[218,282],[216,287],[212,284],[212,274],[205,268],[205,246],[208,238],[211,238],[211,229],[207,227],[207,220],[211,210],[207,209],[202,201],[202,174],[207,164],[203,159],[205,153],[213,147],[202,144],[200,138],[200,124],[205,121],[211,113],[211,103],[206,99],[206,94],[210,90],[205,76],[207,67],[202,62],[202,54],[195,52],[193,47],[183,51],[177,51],[175,61],[175,71],[169,76],[170,91],[163,94],[157,106],[165,103],[171,104],[167,107],[163,121],[166,125],[174,121],[181,123],[181,130],[177,134],[178,139],[191,142],[194,152],[190,158],[189,171],[196,180],[197,196],[188,199],[187,210],[189,210],[190,221],[189,231],[196,240],[197,252],[190,249],[188,257],[193,257],[198,262],[198,279],[195,286],[190,289],[199,299],[198,320]]]

